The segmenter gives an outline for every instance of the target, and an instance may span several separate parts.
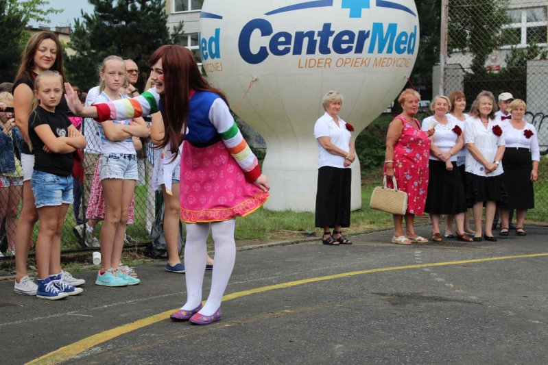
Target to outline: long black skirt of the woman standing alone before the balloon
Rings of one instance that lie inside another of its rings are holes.
[[[350,227],[352,170],[322,166],[318,169],[315,226]]]

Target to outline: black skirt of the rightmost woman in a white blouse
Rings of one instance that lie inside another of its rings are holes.
[[[504,188],[508,192],[508,202],[499,204],[505,209],[532,209],[535,207],[535,194],[531,181],[531,152],[529,149],[507,148],[502,159],[504,168]]]

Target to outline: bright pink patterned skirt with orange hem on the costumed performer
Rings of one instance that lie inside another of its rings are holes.
[[[193,147],[184,142],[181,158],[181,221],[208,223],[246,216],[270,197],[246,181],[224,143]]]

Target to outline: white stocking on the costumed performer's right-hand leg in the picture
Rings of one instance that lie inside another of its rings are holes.
[[[211,316],[221,306],[224,290],[232,274],[236,261],[236,242],[234,240],[234,229],[236,221],[222,221],[211,223],[213,241],[215,242],[215,265],[211,277],[211,291],[207,298],[206,305],[200,310],[204,316]],[[204,254],[205,267],[206,256]],[[185,266],[186,268],[186,266]],[[203,273],[202,273],[203,275]]]

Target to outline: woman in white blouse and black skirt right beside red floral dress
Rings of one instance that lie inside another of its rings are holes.
[[[434,112],[422,121],[422,130],[433,128],[435,133],[430,137],[428,192],[425,212],[430,214],[432,222],[432,240],[440,242],[440,215],[451,214],[457,223],[457,240],[472,242],[464,233],[464,212],[466,197],[464,184],[457,168],[457,153],[464,144],[462,131],[464,123],[447,114],[451,109],[448,97],[438,96],[433,99],[430,109]]]

